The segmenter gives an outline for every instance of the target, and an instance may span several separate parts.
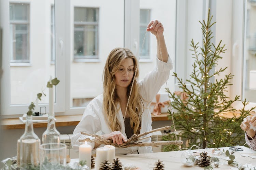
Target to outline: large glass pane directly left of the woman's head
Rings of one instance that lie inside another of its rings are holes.
[[[110,51],[124,47],[124,0],[70,2],[74,11],[70,105],[84,107],[103,92],[102,73]]]

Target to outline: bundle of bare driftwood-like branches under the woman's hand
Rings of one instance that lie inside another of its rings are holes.
[[[79,140],[79,142],[96,142],[99,144],[105,144],[105,145],[112,145],[118,148],[127,148],[127,147],[133,147],[133,146],[137,146],[137,147],[145,147],[145,146],[152,146],[152,147],[158,147],[158,145],[182,145],[183,141],[181,140],[172,140],[172,141],[157,141],[157,142],[140,142],[139,140],[142,139],[146,139],[146,138],[150,138],[151,136],[147,136],[147,137],[143,137],[147,134],[153,133],[153,132],[157,132],[157,131],[162,131],[162,130],[167,130],[170,129],[170,126],[165,126],[163,128],[158,128],[158,129],[153,129],[152,131],[148,131],[142,134],[134,134],[132,135],[129,139],[127,139],[127,142],[124,142],[122,145],[117,145],[117,143],[113,143],[113,140],[106,140],[104,138],[102,138],[100,135],[95,135],[95,134],[89,134],[89,133],[85,133],[85,132],[81,132],[81,134],[83,135],[87,135],[87,136],[92,136],[95,137],[94,139],[90,139],[90,138],[86,138],[83,140]]]

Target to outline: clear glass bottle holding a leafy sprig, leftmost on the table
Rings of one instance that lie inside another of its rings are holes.
[[[33,169],[39,165],[40,140],[34,133],[32,115],[27,115],[24,134],[19,138],[20,169]]]

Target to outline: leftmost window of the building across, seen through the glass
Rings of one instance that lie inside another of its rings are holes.
[[[10,3],[12,63],[29,63],[29,4]]]

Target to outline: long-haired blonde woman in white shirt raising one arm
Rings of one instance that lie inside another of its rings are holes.
[[[98,132],[104,139],[112,139],[113,143],[121,145],[133,134],[152,130],[149,104],[169,78],[172,69],[163,30],[161,22],[157,20],[151,21],[147,26],[147,31],[154,34],[157,39],[157,66],[141,81],[137,81],[139,70],[135,75],[138,61],[130,50],[115,48],[110,52],[103,73],[104,92],[87,105],[82,120],[76,126],[71,138],[74,150],[78,150],[82,144],[79,139],[93,139],[82,135],[81,131],[90,134]],[[142,141],[151,142],[151,138]],[[92,148],[100,146],[98,143],[90,143],[90,145]],[[151,147],[116,148],[116,154],[150,152],[152,152]]]

